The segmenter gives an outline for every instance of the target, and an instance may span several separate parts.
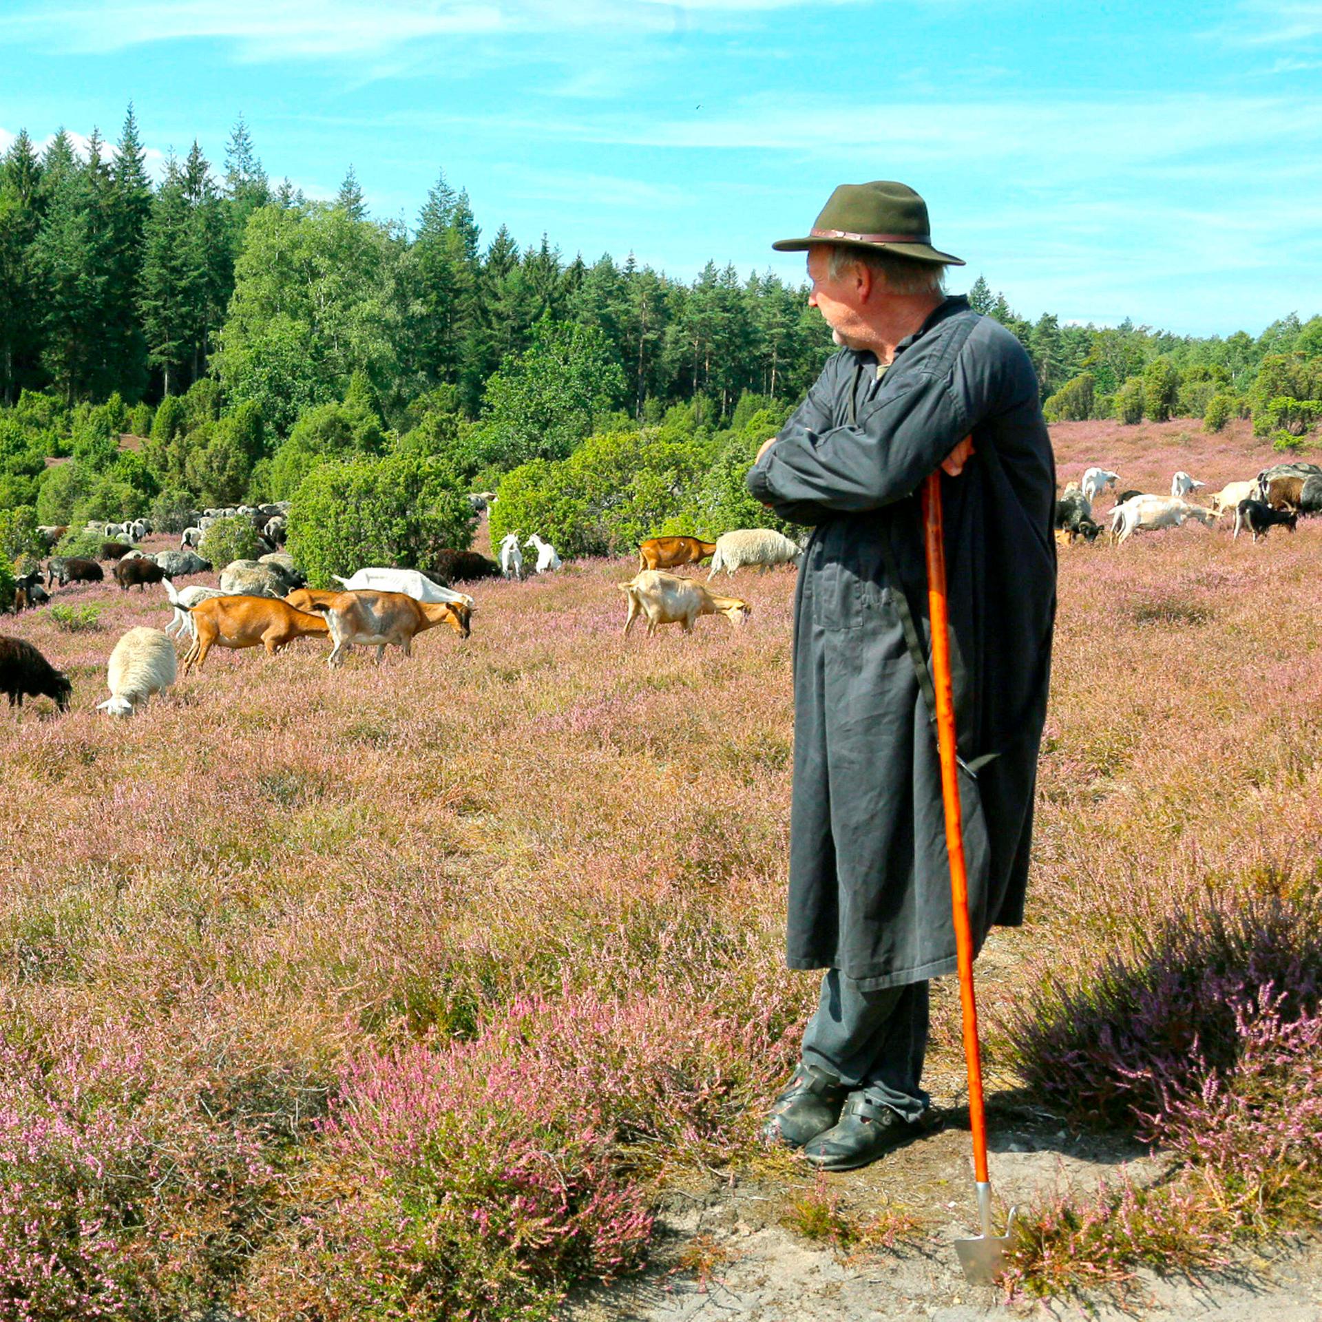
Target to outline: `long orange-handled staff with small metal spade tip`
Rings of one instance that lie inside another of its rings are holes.
[[[964,1060],[969,1072],[969,1128],[973,1130],[973,1175],[977,1181],[982,1233],[956,1240],[965,1280],[990,1284],[1005,1269],[1014,1212],[1005,1235],[992,1233],[992,1183],[988,1179],[988,1124],[982,1105],[982,1055],[978,1050],[978,1007],[973,997],[973,932],[969,925],[969,880],[964,866],[960,818],[960,779],[954,743],[954,697],[951,686],[951,625],[945,599],[945,542],[941,527],[941,471],[923,484],[923,529],[927,551],[927,600],[932,621],[932,685],[936,689],[936,736],[941,759],[941,800],[945,805],[945,849],[951,859],[951,907],[954,911],[954,953],[964,1017]]]

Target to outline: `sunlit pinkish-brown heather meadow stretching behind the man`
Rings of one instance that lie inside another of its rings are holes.
[[[1245,423],[1055,440],[1062,481],[1145,490],[1272,457]],[[1317,887],[1319,564],[1322,521],[1062,550],[998,1087],[1044,976]],[[641,1261],[658,1182],[752,1151],[814,990],[780,957],[793,574],[732,582],[743,631],[648,640],[620,636],[632,572],[483,584],[468,641],[379,669],[217,650],[126,722],[93,707],[160,588],[5,620],[74,699],[0,743],[0,1317],[545,1317]]]

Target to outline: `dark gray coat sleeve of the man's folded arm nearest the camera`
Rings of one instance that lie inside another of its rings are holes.
[[[796,522],[879,509],[919,488],[972,431],[980,403],[957,393],[951,375],[917,374],[883,391],[857,424],[818,430],[796,424],[796,412],[754,465],[748,489]]]

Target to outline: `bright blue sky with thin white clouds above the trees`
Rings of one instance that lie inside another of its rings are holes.
[[[410,223],[444,169],[484,237],[802,274],[838,182],[899,178],[1021,313],[1257,333],[1322,311],[1322,0],[0,0],[20,128],[272,178],[352,163]]]

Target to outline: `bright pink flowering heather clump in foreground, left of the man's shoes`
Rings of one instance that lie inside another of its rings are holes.
[[[631,1175],[727,1149],[787,1067],[765,1023],[591,993],[514,1002],[472,1042],[345,1069],[309,1175],[323,1211],[254,1265],[258,1317],[550,1317],[639,1264]],[[317,1202],[317,1199],[309,1199]]]

